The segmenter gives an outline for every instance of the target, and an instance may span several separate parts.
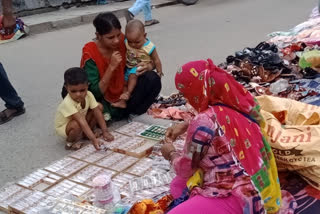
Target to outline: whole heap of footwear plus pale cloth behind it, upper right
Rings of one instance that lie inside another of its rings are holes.
[[[320,105],[320,16],[289,32],[274,32],[267,42],[229,56],[220,67],[254,95],[272,95]]]

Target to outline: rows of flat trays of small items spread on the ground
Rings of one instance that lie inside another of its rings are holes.
[[[115,186],[119,189],[121,196],[125,197],[120,205],[115,206],[115,210],[123,208],[123,204],[128,206],[140,199],[159,197],[159,194],[168,192],[168,183],[172,176],[167,176],[166,172],[169,171],[167,166],[161,168],[157,165],[154,168],[155,160],[146,156],[159,143],[159,139],[163,139],[164,131],[165,128],[160,126],[137,122],[127,124],[113,132],[115,140],[106,142],[100,151],[96,151],[91,144],[87,145],[44,169],[36,170],[18,181],[17,184],[0,189],[0,209],[19,214],[42,211],[46,213],[106,213],[104,209],[91,206],[92,204],[98,205],[95,204],[97,201],[105,202],[102,198],[101,200],[96,198],[97,195],[99,196],[96,194],[99,189],[97,187],[99,182],[96,179],[103,176],[108,177],[109,182],[100,189],[114,194],[113,186]],[[161,161],[157,163],[168,164]],[[130,181],[136,181],[138,177],[146,175],[151,176],[150,178],[152,176],[157,178],[156,180],[151,179],[150,185],[152,186],[147,185],[149,183],[145,177],[143,182],[147,182],[146,185],[142,189],[139,188],[139,191],[132,191]],[[114,199],[113,196],[109,196]],[[66,199],[86,201],[91,205]],[[111,205],[113,203],[112,200]],[[109,209],[107,206],[103,208]]]

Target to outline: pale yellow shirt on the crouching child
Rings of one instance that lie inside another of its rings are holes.
[[[55,118],[55,129],[59,136],[67,138],[66,127],[71,120],[71,116],[80,113],[86,116],[89,109],[98,107],[98,103],[93,94],[88,91],[85,98],[85,106],[82,108],[81,103],[74,101],[68,94],[58,107],[58,111]]]

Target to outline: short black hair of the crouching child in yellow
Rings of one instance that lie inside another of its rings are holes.
[[[85,83],[88,83],[88,76],[85,70],[83,70],[82,68],[69,68],[64,73],[65,85],[79,85]]]

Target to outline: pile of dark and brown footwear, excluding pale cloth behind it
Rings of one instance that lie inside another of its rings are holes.
[[[315,48],[298,43],[279,49],[275,44],[262,42],[229,56],[220,67],[256,96],[272,95],[316,104],[312,102],[320,96],[319,84],[312,79],[319,76],[316,67],[320,54],[319,58],[307,54]]]

